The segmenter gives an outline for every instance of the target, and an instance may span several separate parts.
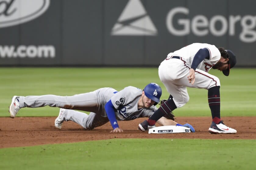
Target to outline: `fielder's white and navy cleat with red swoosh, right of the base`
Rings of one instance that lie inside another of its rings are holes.
[[[211,127],[209,128],[211,134],[235,134],[236,130],[230,127],[227,127],[223,121],[220,121],[219,124],[212,122]]]

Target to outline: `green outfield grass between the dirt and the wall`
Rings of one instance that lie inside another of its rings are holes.
[[[221,115],[255,116],[256,69],[232,69],[230,76],[218,70],[211,74],[221,81]],[[122,90],[126,86],[141,89],[150,82],[158,83],[162,99],[169,94],[158,78],[157,68],[0,68],[0,117],[9,116],[11,97],[55,94],[70,96],[101,87]],[[210,116],[207,90],[188,88],[190,101],[175,110],[176,116]],[[59,108],[23,108],[17,116],[56,116]]]

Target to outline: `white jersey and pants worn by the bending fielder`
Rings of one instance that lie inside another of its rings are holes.
[[[189,69],[194,56],[201,48],[209,50],[210,59],[204,59],[197,66],[195,83],[192,85],[187,77],[190,74]],[[220,86],[219,78],[208,73],[212,66],[220,60],[220,57],[219,49],[206,43],[194,43],[168,54],[167,58],[160,64],[158,74],[167,91],[173,96],[177,107],[182,107],[188,102],[187,87],[208,90],[211,87]]]

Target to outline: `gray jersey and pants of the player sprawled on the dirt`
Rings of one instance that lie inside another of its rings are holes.
[[[101,88],[93,92],[76,94],[74,96],[20,96],[20,108],[23,107],[60,107],[67,109],[63,112],[63,119],[74,121],[86,129],[93,129],[107,123],[105,104],[111,99],[116,108],[118,121],[129,121],[138,117],[150,117],[157,108],[142,108],[138,110],[138,101],[142,90],[136,87],[126,87],[117,92],[113,88]],[[91,112],[89,115],[75,110]]]

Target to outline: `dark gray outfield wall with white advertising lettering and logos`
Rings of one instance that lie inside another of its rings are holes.
[[[193,42],[256,66],[253,0],[0,0],[0,66],[158,66]]]

